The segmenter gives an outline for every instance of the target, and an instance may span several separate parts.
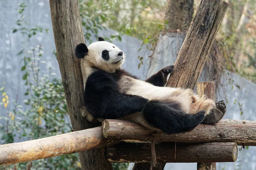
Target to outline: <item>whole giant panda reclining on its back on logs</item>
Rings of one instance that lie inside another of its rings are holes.
[[[88,47],[77,45],[75,53],[81,59],[84,106],[99,120],[131,120],[171,134],[215,124],[224,116],[224,101],[215,104],[191,89],[163,87],[172,65],[143,81],[121,68],[124,52],[102,37]]]

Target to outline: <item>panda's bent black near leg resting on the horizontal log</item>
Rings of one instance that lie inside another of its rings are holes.
[[[164,133],[180,133],[194,129],[204,117],[205,111],[195,114],[183,113],[176,109],[175,103],[150,101],[146,104],[143,114],[149,124],[163,130]]]

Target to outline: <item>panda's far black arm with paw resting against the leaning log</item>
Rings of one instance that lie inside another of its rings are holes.
[[[162,68],[153,76],[149,77],[145,80],[145,82],[149,82],[155,86],[163,87],[167,82],[167,77],[169,74],[172,74],[173,65],[169,65],[165,68]]]

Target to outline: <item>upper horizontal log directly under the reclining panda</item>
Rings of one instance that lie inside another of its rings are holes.
[[[106,119],[102,124],[102,135],[124,142],[150,142],[150,136],[154,135],[155,141],[160,142],[236,142],[255,146],[256,121],[222,119],[215,125],[201,124],[190,132],[168,135],[155,133],[134,122]]]

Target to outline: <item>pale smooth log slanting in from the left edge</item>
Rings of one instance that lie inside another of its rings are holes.
[[[102,128],[64,133],[26,142],[0,145],[0,165],[51,158],[113,143],[103,139]]]

